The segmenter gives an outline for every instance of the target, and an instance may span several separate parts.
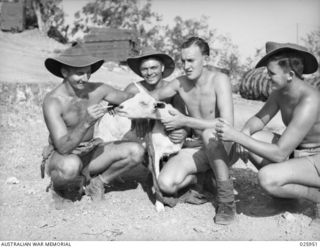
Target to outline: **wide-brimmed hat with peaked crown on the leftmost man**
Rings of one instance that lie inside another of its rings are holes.
[[[93,57],[81,43],[75,43],[73,46],[63,51],[59,56],[47,58],[44,62],[48,71],[61,78],[63,78],[63,75],[61,74],[61,67],[63,65],[72,67],[91,66],[91,73],[94,73],[103,63],[103,59]]]

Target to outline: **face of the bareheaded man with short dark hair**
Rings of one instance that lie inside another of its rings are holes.
[[[181,50],[181,61],[187,78],[196,80],[201,76],[204,66],[207,65],[208,56],[203,55],[198,46],[191,45]]]

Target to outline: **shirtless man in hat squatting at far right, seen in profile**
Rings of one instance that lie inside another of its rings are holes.
[[[219,139],[236,142],[239,156],[258,168],[260,185],[281,198],[306,198],[316,203],[320,223],[320,93],[303,81],[302,74],[318,69],[317,59],[305,47],[266,43],[267,55],[256,67],[266,66],[273,92],[242,131],[219,120]],[[285,131],[263,130],[281,113]]]

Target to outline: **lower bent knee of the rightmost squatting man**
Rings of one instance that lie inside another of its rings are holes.
[[[258,172],[258,180],[261,187],[269,194],[276,194],[281,186],[281,181],[274,170],[269,166],[263,167]]]

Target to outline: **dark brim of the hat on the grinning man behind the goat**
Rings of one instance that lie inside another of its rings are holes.
[[[164,70],[162,73],[163,78],[169,77],[174,72],[175,63],[173,59],[169,55],[164,53],[156,53],[156,54],[149,54],[141,57],[128,58],[127,64],[131,70],[133,70],[140,77],[143,77],[140,71],[140,65],[142,60],[147,58],[158,58],[163,63],[164,65]]]

